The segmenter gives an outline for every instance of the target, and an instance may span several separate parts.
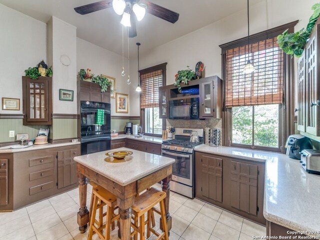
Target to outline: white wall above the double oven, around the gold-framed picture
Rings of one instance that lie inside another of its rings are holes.
[[[129,94],[130,97],[129,85],[126,84],[127,75],[124,77],[121,76],[121,55],[94,45],[78,37],[76,38],[76,51],[77,71],[79,71],[81,68],[90,68],[91,72],[95,75],[103,74],[115,77],[115,92]],[[124,58],[124,69],[127,73],[126,63],[127,58]],[[116,113],[115,98],[111,98],[111,115],[130,115],[132,108],[134,111],[135,107],[131,104],[131,101],[129,101],[129,113]]]

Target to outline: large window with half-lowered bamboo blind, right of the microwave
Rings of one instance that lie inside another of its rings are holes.
[[[290,105],[286,87],[291,61],[279,48],[276,36],[286,28],[293,31],[295,24],[251,35],[249,44],[245,37],[220,45],[225,82],[224,145],[281,151],[287,135],[285,121],[293,119],[293,111],[284,110]],[[243,73],[247,60],[255,67],[253,73]]]

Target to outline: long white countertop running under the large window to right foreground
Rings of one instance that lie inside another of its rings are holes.
[[[299,160],[281,153],[226,146],[202,145],[195,150],[264,161],[265,219],[296,231],[320,231],[320,175],[304,171]]]

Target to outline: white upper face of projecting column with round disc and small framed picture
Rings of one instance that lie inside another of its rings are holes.
[[[70,65],[63,65],[67,55]],[[53,113],[77,113],[76,99],[76,27],[54,16],[48,21],[48,63],[52,64]],[[59,89],[73,90],[73,101],[59,100]]]

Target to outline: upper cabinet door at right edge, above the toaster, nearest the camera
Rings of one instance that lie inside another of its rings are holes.
[[[306,44],[306,129],[307,133],[312,135],[320,135],[320,85],[318,68],[320,68],[319,51],[320,46],[318,40],[320,25],[315,25],[309,41]]]

